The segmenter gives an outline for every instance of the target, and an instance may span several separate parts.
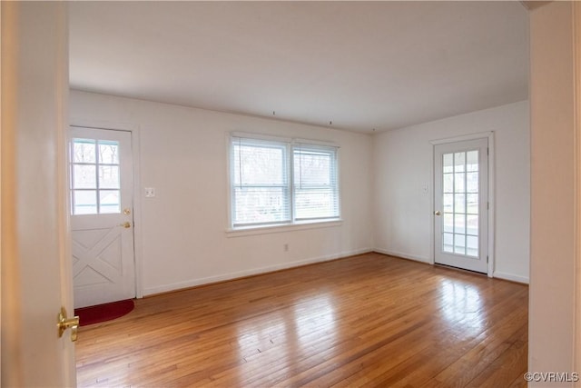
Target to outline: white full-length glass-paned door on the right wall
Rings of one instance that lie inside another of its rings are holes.
[[[434,261],[486,274],[488,140],[434,150]]]

